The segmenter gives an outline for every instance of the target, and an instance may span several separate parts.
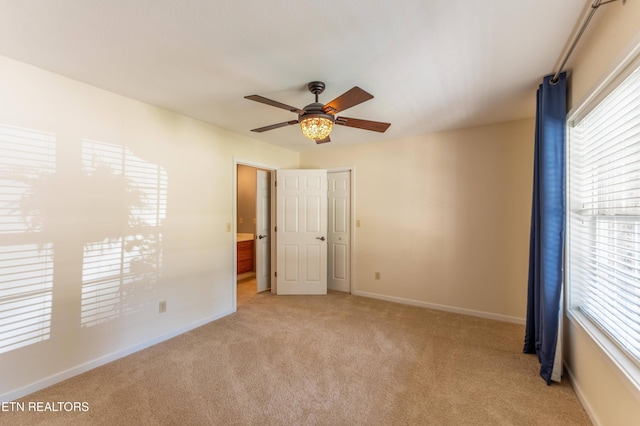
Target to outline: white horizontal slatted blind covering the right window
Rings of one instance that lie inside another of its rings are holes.
[[[569,131],[570,309],[640,364],[640,68]]]

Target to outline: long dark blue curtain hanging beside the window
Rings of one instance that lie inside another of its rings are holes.
[[[540,376],[551,383],[564,264],[566,74],[544,78],[538,88],[529,288],[524,352],[535,353]]]

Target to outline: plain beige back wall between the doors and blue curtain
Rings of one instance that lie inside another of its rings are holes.
[[[522,322],[534,124],[302,153],[355,167],[354,293]]]

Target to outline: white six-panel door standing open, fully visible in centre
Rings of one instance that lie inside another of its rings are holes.
[[[277,171],[277,294],[327,294],[327,171]]]

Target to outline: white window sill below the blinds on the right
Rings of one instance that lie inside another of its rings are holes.
[[[615,343],[597,327],[583,313],[568,310],[567,318],[586,333],[602,355],[602,358],[612,368],[620,381],[625,384],[630,393],[640,402],[640,367],[629,359]]]

